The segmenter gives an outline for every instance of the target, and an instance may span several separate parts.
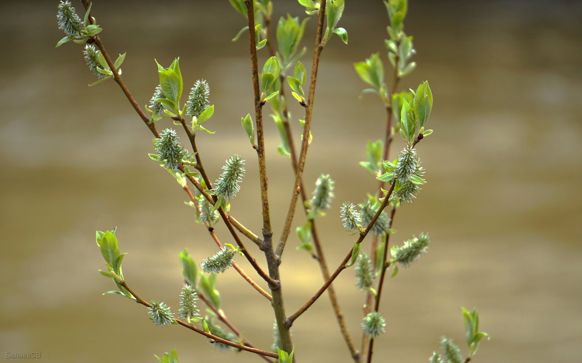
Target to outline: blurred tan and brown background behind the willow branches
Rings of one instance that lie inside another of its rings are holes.
[[[155,362],[153,354],[178,348],[182,362],[260,361],[221,353],[178,326],[158,328],[142,306],[101,296],[114,286],[97,272],[104,263],[95,230],[117,227],[121,250],[129,253],[129,285],[145,300],[174,308],[182,286],[178,252],[187,247],[200,263],[217,248],[184,206],[187,196],[148,158],[150,131],[115,82],[87,87],[94,76],[82,46],[55,49],[63,37],[56,5],[0,3],[0,360],[40,352],[45,362]],[[274,19],[306,16],[296,1],[274,5]],[[211,179],[230,154],[247,160],[232,213],[260,233],[257,159],[240,125],[253,113],[248,45],[245,37],[230,41],[244,18],[228,1],[95,0],[93,15],[108,52],[127,52],[123,77],[141,106],[158,84],[154,58],[168,66],[180,56],[184,88],[208,80],[215,114],[207,128],[216,134],[200,134],[198,148]],[[582,361],[581,16],[579,1],[410,1],[404,30],[414,36],[418,66],[399,89],[430,81],[428,127],[435,131],[418,145],[428,183],[416,202],[399,209],[391,243],[428,231],[432,245],[387,281],[381,307],[387,326],[376,361],[427,361],[443,335],[466,353],[461,306],[478,307],[481,330],[491,335],[475,362]],[[366,86],[353,63],[381,51],[388,69],[387,25],[381,1],[346,1],[339,26],[349,32],[349,45],[335,37],[322,53],[304,180],[309,192],[321,173],[336,181],[332,209],[318,220],[330,268],[354,242],[341,226],[341,203],[361,203],[378,185],[357,163],[365,160],[365,142],[383,135],[385,113],[375,96],[359,99]],[[314,28],[311,19],[305,64]],[[297,142],[303,113],[295,105],[291,111]],[[278,235],[293,174],[276,153],[275,125],[266,125]],[[393,144],[392,155],[400,148],[400,141]],[[294,227],[303,222],[297,213]],[[222,227],[217,233],[232,242]],[[292,235],[282,264],[288,314],[322,282],[297,245]],[[248,247],[262,261],[253,243]],[[237,262],[253,275],[244,258]],[[359,342],[363,294],[353,269],[336,281]],[[233,324],[268,349],[267,301],[232,269],[218,286]],[[299,362],[351,361],[327,295],[296,321],[293,337]]]

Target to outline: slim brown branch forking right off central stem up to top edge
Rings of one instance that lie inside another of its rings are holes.
[[[325,0],[320,3],[320,10],[318,12],[317,21],[317,34],[315,35],[315,47],[313,51],[313,62],[311,63],[311,77],[309,82],[309,92],[307,97],[307,105],[305,108],[305,124],[303,127],[303,141],[301,141],[301,149],[299,151],[299,159],[297,161],[297,170],[295,175],[295,182],[293,184],[293,192],[291,193],[291,201],[289,203],[289,210],[287,212],[287,217],[285,219],[285,225],[283,231],[281,232],[281,237],[279,238],[279,244],[275,251],[275,254],[279,257],[283,254],[285,249],[285,243],[289,238],[289,232],[291,230],[291,223],[293,222],[293,215],[295,214],[295,208],[297,205],[297,197],[299,197],[299,191],[301,188],[301,181],[303,179],[303,168],[305,167],[305,161],[307,158],[307,148],[309,146],[309,132],[311,130],[311,120],[313,116],[313,103],[315,100],[315,84],[317,83],[317,71],[320,65],[321,51],[324,46],[321,44],[321,38],[323,35],[325,23]]]

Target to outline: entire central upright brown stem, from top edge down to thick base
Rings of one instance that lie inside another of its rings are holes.
[[[273,301],[271,303],[275,314],[275,321],[277,329],[279,330],[279,337],[281,339],[281,348],[287,353],[293,351],[293,342],[291,340],[291,333],[289,326],[285,325],[285,305],[283,304],[283,292],[281,288],[281,275],[279,274],[279,264],[281,259],[275,255],[273,249],[273,232],[271,230],[271,220],[269,217],[269,201],[267,195],[267,165],[265,164],[265,145],[262,125],[262,102],[261,94],[258,85],[258,59],[257,59],[257,44],[255,41],[255,24],[254,24],[254,4],[253,0],[244,0],[247,7],[247,18],[249,20],[249,50],[251,59],[251,70],[253,73],[253,92],[255,104],[255,118],[257,121],[257,155],[259,163],[259,173],[261,182],[261,204],[262,204],[262,246],[261,250],[265,253],[267,260],[267,267],[269,276],[278,282],[276,285],[269,283]]]

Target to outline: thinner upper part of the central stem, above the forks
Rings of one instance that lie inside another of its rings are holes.
[[[264,233],[271,233],[271,215],[269,212],[269,195],[267,191],[267,163],[265,161],[265,142],[262,124],[261,91],[258,81],[257,44],[255,39],[254,6],[253,1],[245,0],[247,17],[249,19],[249,49],[251,59],[251,73],[253,74],[253,94],[255,106],[255,120],[257,121],[257,156],[258,172],[261,184],[262,229]]]

